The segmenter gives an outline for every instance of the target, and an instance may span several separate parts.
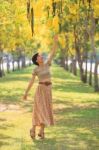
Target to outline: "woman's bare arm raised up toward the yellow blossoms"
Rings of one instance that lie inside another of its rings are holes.
[[[57,41],[58,41],[58,35],[55,35],[54,36],[54,44],[53,44],[52,50],[51,50],[50,54],[48,55],[48,59],[47,59],[48,64],[51,64],[51,61],[56,53]]]

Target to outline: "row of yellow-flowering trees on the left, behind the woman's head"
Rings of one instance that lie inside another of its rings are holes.
[[[34,42],[35,41],[35,42]],[[36,39],[31,36],[31,29],[26,18],[26,1],[0,1],[0,77],[4,73],[4,59],[6,57],[7,72],[10,69],[9,54],[12,55],[13,71],[17,62],[25,67],[25,57],[31,59],[33,51],[39,47]]]

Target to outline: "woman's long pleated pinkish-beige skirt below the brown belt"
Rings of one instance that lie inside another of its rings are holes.
[[[52,85],[39,84],[35,95],[32,113],[32,125],[54,125],[52,106]]]

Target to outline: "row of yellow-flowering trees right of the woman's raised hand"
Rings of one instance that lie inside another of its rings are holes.
[[[66,47],[62,48],[62,66],[66,70],[70,68],[70,71],[77,75],[76,62],[78,62],[81,80],[93,85],[95,91],[99,91],[99,58],[97,57],[99,52],[99,2],[72,1],[71,8],[66,12],[68,13],[67,18],[69,17],[65,22],[67,30],[64,32],[62,28],[66,42]],[[69,58],[72,61],[70,67],[68,66]],[[90,63],[89,72],[88,62]],[[92,72],[93,62],[95,63],[94,73]]]

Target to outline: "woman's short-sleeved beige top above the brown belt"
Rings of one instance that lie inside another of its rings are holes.
[[[50,81],[51,73],[50,73],[51,63],[49,61],[44,62],[43,66],[37,66],[33,69],[32,75],[38,77],[39,81]]]

